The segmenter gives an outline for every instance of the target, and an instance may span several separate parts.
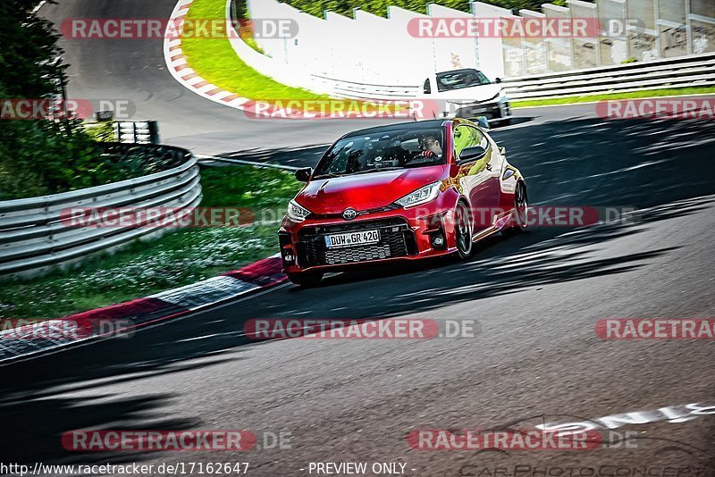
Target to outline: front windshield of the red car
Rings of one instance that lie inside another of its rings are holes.
[[[442,128],[387,130],[343,138],[315,167],[315,179],[444,163]]]

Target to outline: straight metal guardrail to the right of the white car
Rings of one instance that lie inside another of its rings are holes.
[[[715,86],[715,53],[504,79],[511,99]]]

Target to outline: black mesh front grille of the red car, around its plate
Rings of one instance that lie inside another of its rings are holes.
[[[325,247],[324,236],[355,230],[380,230],[380,242],[355,247]],[[302,266],[350,264],[416,254],[416,238],[400,218],[363,222],[341,222],[304,227],[297,244]]]

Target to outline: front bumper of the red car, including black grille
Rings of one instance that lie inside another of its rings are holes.
[[[283,272],[341,271],[357,264],[416,260],[454,251],[453,215],[448,209],[415,207],[358,217],[291,222],[279,230]],[[328,248],[325,236],[359,230],[380,230],[380,241],[370,245]],[[443,245],[434,238],[442,236]]]

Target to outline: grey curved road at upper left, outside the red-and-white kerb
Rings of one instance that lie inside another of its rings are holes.
[[[57,28],[72,18],[167,19],[176,0],[62,0],[40,13]],[[211,40],[209,40],[211,41]],[[305,146],[332,142],[355,129],[350,121],[251,120],[229,106],[207,101],[184,88],[166,71],[158,39],[62,38],[70,84],[68,97],[129,100],[135,121],[157,120],[162,141],[204,154],[253,148]],[[354,122],[354,121],[353,121]],[[370,126],[375,121],[360,120]]]

